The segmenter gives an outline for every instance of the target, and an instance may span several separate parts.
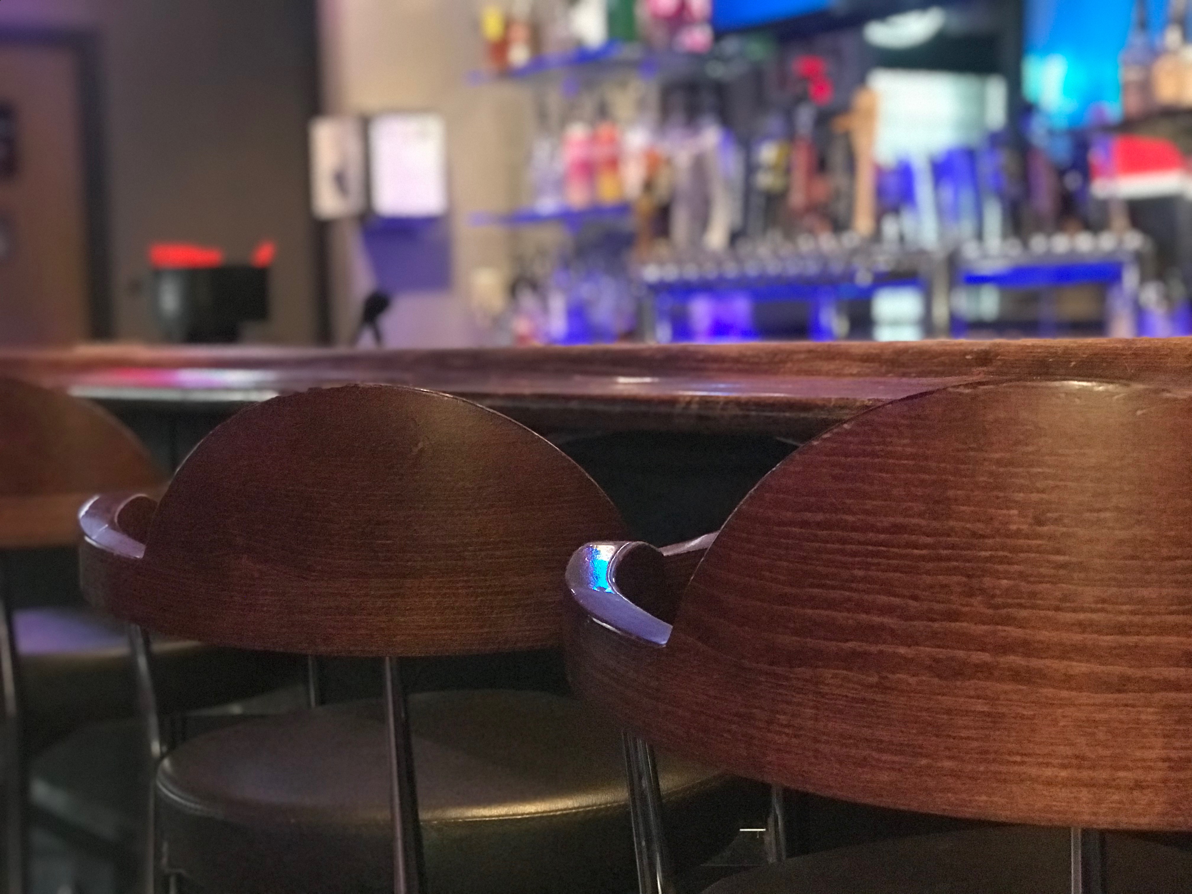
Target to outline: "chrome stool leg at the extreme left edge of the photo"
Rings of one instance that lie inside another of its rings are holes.
[[[25,894],[25,814],[29,778],[20,728],[20,668],[8,595],[8,566],[0,558],[0,697],[4,700],[5,890]]]

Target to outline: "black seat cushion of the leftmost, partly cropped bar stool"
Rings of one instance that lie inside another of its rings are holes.
[[[136,714],[125,626],[86,607],[13,613],[30,747],[79,726]],[[302,663],[273,656],[154,639],[154,679],[163,712],[224,704],[284,685]]]

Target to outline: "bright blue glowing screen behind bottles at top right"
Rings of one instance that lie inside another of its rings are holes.
[[[1167,0],[1148,0],[1151,39],[1167,20]],[[1023,92],[1056,128],[1122,118],[1118,58],[1134,0],[1028,0]]]

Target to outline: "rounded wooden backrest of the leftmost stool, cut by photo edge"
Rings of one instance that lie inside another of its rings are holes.
[[[72,546],[93,493],[163,482],[141,442],[95,404],[0,379],[0,548]]]

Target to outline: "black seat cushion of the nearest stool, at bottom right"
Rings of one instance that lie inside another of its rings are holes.
[[[704,894],[1061,894],[1069,832],[1005,826],[840,848],[732,876]],[[1187,894],[1192,855],[1111,834],[1106,894]]]

